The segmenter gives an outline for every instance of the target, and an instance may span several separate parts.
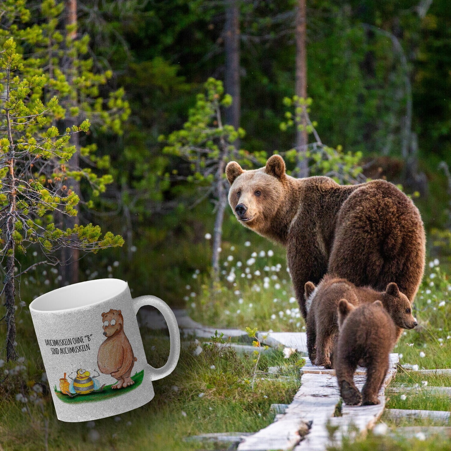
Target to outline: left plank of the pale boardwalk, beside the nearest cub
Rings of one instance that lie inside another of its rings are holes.
[[[238,451],[290,450],[308,432],[306,422],[313,421],[310,434],[313,428],[327,422],[340,399],[336,378],[328,374],[304,374],[301,383],[285,414],[247,437],[239,444]]]

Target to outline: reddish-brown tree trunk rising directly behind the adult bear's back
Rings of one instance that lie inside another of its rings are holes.
[[[296,11],[296,81],[295,95],[307,99],[307,16],[306,16],[306,0],[298,0]],[[299,177],[308,177],[308,161],[305,158],[305,152],[308,144],[307,111],[303,111],[301,115],[301,123],[303,130],[296,128],[296,149],[298,159],[296,169]],[[296,126],[299,124],[296,124]]]

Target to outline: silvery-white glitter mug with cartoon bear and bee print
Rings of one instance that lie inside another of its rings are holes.
[[[136,314],[151,305],[169,328],[166,364],[147,363]],[[119,415],[154,396],[152,380],[179,360],[180,333],[169,306],[155,296],[132,299],[119,279],[98,279],[50,291],[30,312],[58,419],[76,422]]]

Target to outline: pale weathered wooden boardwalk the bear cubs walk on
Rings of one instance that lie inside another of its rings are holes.
[[[334,444],[339,445],[343,435],[354,425],[360,433],[373,428],[385,407],[384,391],[396,373],[398,354],[390,354],[390,368],[379,392],[380,404],[375,406],[352,407],[343,405],[341,416],[335,417],[340,400],[336,377],[332,370],[315,367],[309,362],[301,368],[301,387],[288,405],[285,414],[274,423],[257,433],[246,437],[238,446],[238,451],[324,451],[330,444],[328,424],[338,426],[334,434]],[[366,374],[360,368],[354,381],[362,389]],[[308,429],[308,426],[311,426]]]

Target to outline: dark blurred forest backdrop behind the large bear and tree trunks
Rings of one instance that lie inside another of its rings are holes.
[[[294,94],[297,3],[235,2],[239,125],[246,132],[239,148],[249,154],[286,152],[295,142],[295,129],[282,131],[281,122],[283,99]],[[25,4],[28,20],[14,23],[41,24],[41,2]],[[78,35],[90,37],[93,70],[112,74],[100,94],[124,87],[130,107],[121,134],[93,127],[80,143],[96,143],[114,177],[93,209],[80,206],[80,221],[125,239],[122,249],[84,256],[82,280],[115,272],[108,267],[119,261],[115,275],[128,279],[135,295],[152,293],[181,306],[193,273],[208,270],[211,240],[204,237],[213,233],[215,205],[211,198],[196,202],[198,189],[186,181],[189,163],[164,153],[158,137],[182,129],[209,77],[224,79],[228,7],[228,0],[78,0]],[[322,142],[345,154],[360,152],[365,176],[413,194],[428,234],[434,230],[429,251],[450,255],[450,193],[447,172],[439,169],[441,161],[451,164],[449,2],[309,0],[306,16],[310,117]],[[175,173],[180,177],[171,178]],[[228,207],[223,239],[264,242]],[[24,263],[38,259],[29,252]]]

